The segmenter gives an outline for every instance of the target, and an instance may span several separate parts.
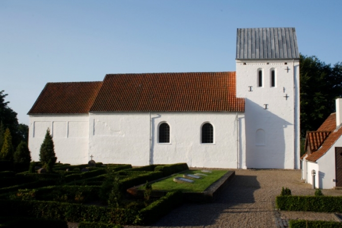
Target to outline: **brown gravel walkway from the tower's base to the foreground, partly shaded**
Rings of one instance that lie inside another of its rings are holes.
[[[334,220],[334,214],[274,210],[281,187],[293,195],[313,195],[303,183],[300,170],[236,170],[236,177],[211,204],[185,204],[161,218],[153,227],[287,227],[289,219]],[[342,195],[341,190],[322,190],[325,195]],[[126,226],[144,227],[144,226]]]

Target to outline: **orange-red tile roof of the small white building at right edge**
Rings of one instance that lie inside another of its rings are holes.
[[[306,160],[316,162],[335,144],[336,140],[342,135],[342,128],[336,130],[336,114],[332,113],[318,129],[321,131],[329,130],[331,133],[324,140],[322,146],[316,151],[309,154]]]

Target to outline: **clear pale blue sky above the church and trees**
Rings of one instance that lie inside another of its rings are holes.
[[[29,124],[47,82],[235,71],[236,30],[245,27],[295,27],[302,54],[335,64],[341,9],[337,0],[0,0],[0,91]]]

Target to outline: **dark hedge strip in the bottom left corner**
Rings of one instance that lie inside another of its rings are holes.
[[[32,226],[35,228],[68,228],[68,223],[63,220],[25,218],[25,217],[0,217],[0,227],[17,228]]]

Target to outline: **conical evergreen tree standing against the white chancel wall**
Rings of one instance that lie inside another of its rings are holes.
[[[47,172],[52,171],[52,167],[57,160],[49,128],[46,130],[44,141],[40,146],[39,160],[43,162],[43,166],[46,168]]]

